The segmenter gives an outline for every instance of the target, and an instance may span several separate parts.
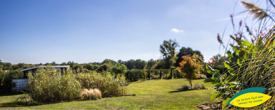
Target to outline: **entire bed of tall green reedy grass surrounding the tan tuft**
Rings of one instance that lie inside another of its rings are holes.
[[[39,68],[28,76],[28,96],[40,103],[79,100],[84,88],[97,88],[103,97],[125,95],[127,90],[125,77],[109,73],[75,74],[70,68],[60,73],[54,68]]]

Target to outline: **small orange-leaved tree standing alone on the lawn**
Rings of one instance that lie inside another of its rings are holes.
[[[196,62],[196,59],[192,59],[190,55],[182,56],[182,59],[177,69],[184,74],[184,78],[188,80],[192,89],[192,81],[196,78],[195,73],[199,73],[200,65]]]

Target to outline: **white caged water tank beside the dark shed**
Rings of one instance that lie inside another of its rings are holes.
[[[28,86],[29,79],[13,79],[11,81],[11,91],[20,92]]]

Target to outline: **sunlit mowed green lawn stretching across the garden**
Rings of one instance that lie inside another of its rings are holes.
[[[194,80],[193,83],[201,83]],[[179,85],[188,84],[185,79],[146,80],[132,82],[128,85],[127,94],[136,96],[110,97],[102,100],[72,101],[25,106],[14,102],[20,95],[0,96],[0,109],[197,109],[196,106],[210,102],[215,92],[209,90],[212,84],[205,84],[207,90],[178,91]]]

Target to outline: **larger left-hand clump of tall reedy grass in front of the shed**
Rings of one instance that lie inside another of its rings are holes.
[[[39,68],[28,75],[28,95],[42,103],[80,99],[82,87],[75,74],[61,74],[54,68]]]

